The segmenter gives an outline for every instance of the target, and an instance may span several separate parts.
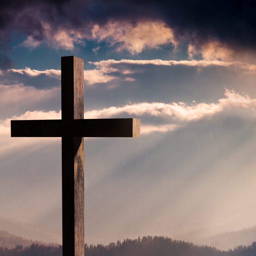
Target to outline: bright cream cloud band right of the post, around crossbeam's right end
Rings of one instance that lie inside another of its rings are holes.
[[[122,107],[112,106],[102,110],[91,110],[84,113],[87,119],[93,118],[114,118],[128,114],[136,117],[154,116],[161,117],[162,122],[169,122],[169,124],[160,125],[145,125],[141,122],[141,134],[160,131],[167,132],[177,129],[178,127],[186,125],[188,122],[195,122],[203,118],[209,118],[217,113],[227,111],[229,108],[246,111],[242,112],[244,116],[256,116],[256,99],[251,99],[248,94],[241,95],[234,90],[225,91],[225,98],[219,99],[218,103],[198,103],[193,106],[188,106],[183,102],[172,102],[169,104],[161,102],[142,102],[131,103]],[[160,121],[160,122],[161,122]]]

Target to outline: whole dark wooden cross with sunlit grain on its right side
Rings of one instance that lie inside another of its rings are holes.
[[[83,59],[61,57],[61,119],[12,120],[12,137],[61,137],[63,256],[84,256],[84,137],[140,137],[140,119],[83,119]]]

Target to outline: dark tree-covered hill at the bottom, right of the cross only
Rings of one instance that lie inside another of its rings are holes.
[[[220,251],[215,247],[198,246],[193,243],[176,241],[167,237],[147,236],[140,239],[126,239],[108,246],[88,246],[86,256],[255,256],[256,242],[250,246],[240,246],[229,251]]]

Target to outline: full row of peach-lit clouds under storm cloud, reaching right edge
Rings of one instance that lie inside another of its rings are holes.
[[[201,55],[206,61],[222,60],[242,62],[254,62],[255,52],[251,50],[238,51],[222,44],[217,39],[211,39],[204,44],[191,40],[190,37],[174,36],[173,29],[164,22],[157,20],[142,20],[133,24],[131,22],[109,21],[105,25],[85,24],[83,28],[71,28],[59,26],[53,28],[49,23],[41,22],[43,40],[37,40],[28,36],[21,44],[34,49],[41,44],[47,44],[55,49],[73,50],[76,45],[86,45],[86,40],[106,42],[114,46],[115,51],[127,50],[132,55],[141,53],[145,49],[158,49],[161,45],[172,44],[174,49],[183,44],[185,39],[190,41],[187,54],[189,59]],[[100,46],[92,49],[97,53]]]

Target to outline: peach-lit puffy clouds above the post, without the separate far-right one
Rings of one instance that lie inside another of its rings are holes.
[[[130,22],[110,21],[104,26],[94,24],[91,30],[90,26],[84,26],[84,29],[58,27],[56,30],[46,22],[41,22],[41,26],[44,39],[39,41],[28,36],[22,46],[33,49],[46,43],[52,48],[72,50],[76,44],[85,45],[85,41],[89,39],[105,41],[111,46],[118,43],[117,51],[128,50],[131,54],[135,54],[146,48],[159,48],[163,44],[177,45],[173,30],[162,21],[145,20],[135,25]],[[97,48],[94,51],[97,51]]]

